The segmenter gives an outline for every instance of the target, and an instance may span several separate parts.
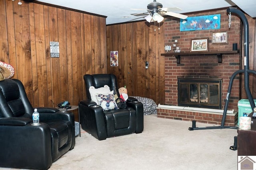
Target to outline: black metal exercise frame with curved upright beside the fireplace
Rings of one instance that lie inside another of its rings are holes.
[[[227,13],[236,13],[238,16],[240,16],[243,26],[244,26],[244,70],[237,70],[234,72],[230,78],[229,85],[228,85],[228,92],[226,96],[226,103],[224,106],[224,111],[222,115],[222,121],[220,126],[211,126],[211,127],[196,127],[196,121],[192,121],[192,127],[189,127],[188,130],[193,131],[193,130],[200,130],[200,129],[225,129],[225,128],[230,128],[230,129],[238,129],[236,126],[224,126],[225,119],[226,119],[226,113],[228,110],[228,102],[230,98],[230,92],[232,89],[232,84],[235,76],[240,73],[244,73],[244,88],[246,91],[246,95],[248,97],[248,100],[250,102],[250,105],[252,107],[252,110],[255,107],[254,100],[252,98],[252,93],[250,92],[249,88],[249,73],[256,74],[255,70],[249,70],[249,28],[248,28],[248,21],[246,19],[246,16],[244,13],[242,13],[240,10],[236,8],[228,8]]]

